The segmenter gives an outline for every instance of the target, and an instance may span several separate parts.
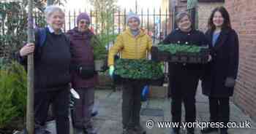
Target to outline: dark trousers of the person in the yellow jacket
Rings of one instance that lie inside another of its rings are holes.
[[[137,81],[124,83],[122,95],[122,122],[124,128],[140,125],[140,95],[143,86],[143,83]]]

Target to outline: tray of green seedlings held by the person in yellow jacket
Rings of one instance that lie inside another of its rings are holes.
[[[146,59],[118,59],[115,61],[114,83],[140,81],[144,84],[162,86],[165,76],[161,63]]]

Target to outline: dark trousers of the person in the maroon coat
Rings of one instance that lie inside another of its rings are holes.
[[[91,127],[91,112],[94,107],[94,88],[78,88],[80,99],[75,99],[72,109],[72,123],[75,128]]]

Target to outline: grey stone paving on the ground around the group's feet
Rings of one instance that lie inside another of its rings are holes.
[[[208,99],[200,91],[201,89],[198,87],[196,96],[197,120],[199,122],[207,122],[209,118]],[[99,114],[97,117],[94,117],[94,125],[97,127],[99,134],[121,134],[121,90],[96,90],[95,99],[95,106],[97,106]],[[148,119],[153,119],[154,122],[170,122],[170,101],[171,99],[168,98],[150,98],[148,101],[143,102],[140,113],[141,125],[146,128],[146,121]],[[182,114],[184,120],[184,109]],[[229,133],[256,134],[255,122],[252,122],[237,106],[230,103],[230,121],[244,122],[246,120],[251,122],[251,128],[231,128]],[[146,131],[147,134],[168,134],[170,133],[170,128],[159,128],[155,125],[151,129],[146,128]],[[181,132],[185,133],[185,130]],[[195,133],[199,134],[200,128],[197,128]]]

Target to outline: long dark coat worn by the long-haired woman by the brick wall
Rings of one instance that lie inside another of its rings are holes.
[[[212,60],[205,67],[202,79],[203,94],[217,98],[227,98],[233,95],[233,87],[225,87],[225,79],[238,74],[238,35],[233,29],[223,29],[212,47],[213,31],[206,32],[206,38],[211,46]]]

